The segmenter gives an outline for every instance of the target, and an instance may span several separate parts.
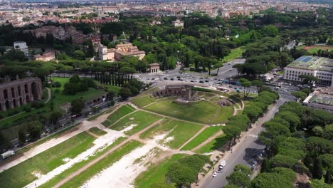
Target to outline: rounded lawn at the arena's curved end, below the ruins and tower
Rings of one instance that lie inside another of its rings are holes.
[[[200,123],[222,123],[233,114],[232,108],[221,108],[217,103],[199,101],[193,103],[174,103],[175,98],[164,98],[144,108],[154,113],[169,115],[182,120]]]

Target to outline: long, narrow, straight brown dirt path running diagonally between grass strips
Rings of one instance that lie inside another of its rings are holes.
[[[74,172],[73,174],[70,174],[68,177],[65,177],[63,180],[61,180],[60,182],[58,182],[58,184],[56,184],[53,188],[58,188],[60,186],[62,186],[63,184],[65,184],[66,182],[68,182],[70,179],[72,179],[73,177],[77,176],[78,174],[80,174],[81,172],[85,171],[86,169],[88,169],[89,167],[93,166],[93,164],[99,162],[100,160],[102,160],[104,157],[106,157],[107,155],[110,155],[110,153],[114,152],[115,150],[119,149],[120,147],[122,147],[122,145],[125,145],[127,142],[129,142],[130,140],[135,140],[135,138],[137,137],[137,135],[140,135],[142,132],[145,132],[146,130],[149,130],[151,127],[154,127],[155,125],[157,125],[160,121],[162,120],[157,120],[156,122],[152,123],[151,125],[149,125],[148,127],[145,127],[143,130],[140,130],[139,132],[137,132],[136,134],[128,137],[126,140],[124,140],[123,142],[121,142],[119,145],[116,145],[115,147],[112,147],[112,149],[108,150],[107,152],[105,152],[103,155],[101,155],[100,157],[97,157],[95,160],[89,162],[88,164],[86,164],[84,167],[78,169],[78,171]]]

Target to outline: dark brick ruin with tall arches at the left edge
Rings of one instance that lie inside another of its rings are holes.
[[[39,78],[16,78],[13,81],[5,78],[4,83],[0,84],[0,111],[41,100],[42,95],[42,83]]]

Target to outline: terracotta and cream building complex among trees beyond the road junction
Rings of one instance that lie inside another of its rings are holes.
[[[107,48],[106,46],[98,48],[98,57],[102,61],[120,61],[122,56],[134,56],[142,60],[146,56],[146,53],[139,51],[137,46],[133,46],[132,43],[117,44],[115,48]]]

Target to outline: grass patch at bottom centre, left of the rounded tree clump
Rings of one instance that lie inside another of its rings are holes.
[[[166,182],[165,174],[169,166],[185,156],[184,154],[176,154],[159,164],[153,164],[137,176],[134,180],[134,186],[136,188],[151,188],[151,184],[154,182]]]

